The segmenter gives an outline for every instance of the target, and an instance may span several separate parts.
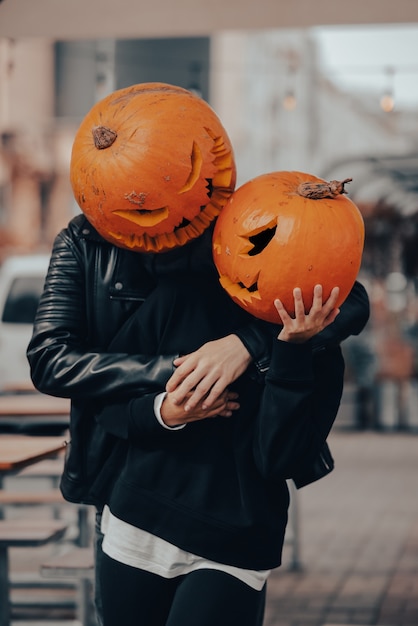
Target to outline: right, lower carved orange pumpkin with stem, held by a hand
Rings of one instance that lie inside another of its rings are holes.
[[[222,286],[238,305],[280,323],[274,300],[294,313],[293,289],[300,287],[308,311],[316,284],[323,286],[324,301],[339,287],[337,306],[342,304],[364,245],[361,213],[342,195],[349,180],[327,183],[303,172],[273,172],[232,194],[216,222],[213,257]]]

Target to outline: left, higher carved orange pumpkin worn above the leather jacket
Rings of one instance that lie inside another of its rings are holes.
[[[206,230],[235,188],[236,169],[228,135],[204,100],[142,83],[113,92],[86,115],[70,180],[105,239],[161,252]]]

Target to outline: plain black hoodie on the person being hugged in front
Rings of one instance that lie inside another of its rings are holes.
[[[248,323],[219,285],[201,247],[208,241],[150,255],[157,287],[110,350],[188,353]],[[339,407],[344,363],[335,343],[290,344],[270,328],[265,380],[249,371],[231,386],[241,408],[230,418],[164,429],[154,414],[157,392],[115,399],[98,411],[106,431],[129,444],[108,501],[114,515],[214,561],[248,569],[280,564],[286,479],[321,453]]]

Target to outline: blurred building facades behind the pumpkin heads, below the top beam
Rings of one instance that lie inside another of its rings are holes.
[[[81,119],[107,93],[147,81],[194,89],[210,102],[232,139],[238,185],[273,170],[324,176],[345,161],[344,178],[355,179],[351,193],[361,172],[356,161],[418,154],[416,115],[387,114],[370,97],[339,91],[319,70],[309,30],[118,41],[0,39],[4,249],[7,242],[22,249],[50,245],[78,211],[68,166]]]

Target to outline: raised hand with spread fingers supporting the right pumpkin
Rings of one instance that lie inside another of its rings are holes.
[[[293,290],[295,300],[295,315],[291,317],[280,300],[274,301],[274,306],[283,323],[283,328],[277,338],[291,343],[304,343],[324,330],[337,317],[340,310],[335,307],[340,290],[334,287],[328,300],[322,303],[322,285],[314,288],[312,307],[305,313],[302,291],[297,287]]]

